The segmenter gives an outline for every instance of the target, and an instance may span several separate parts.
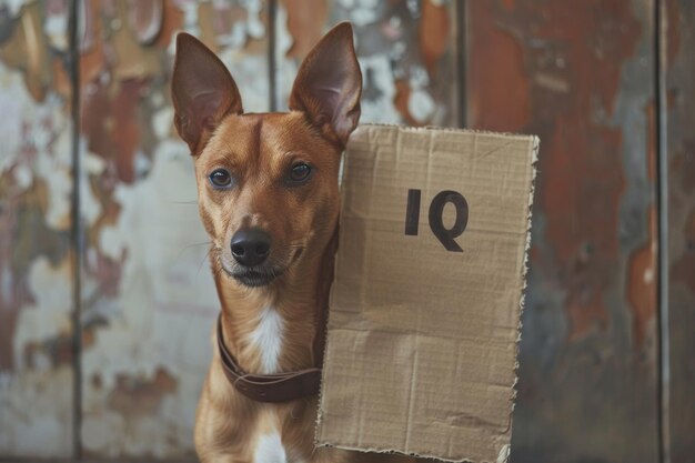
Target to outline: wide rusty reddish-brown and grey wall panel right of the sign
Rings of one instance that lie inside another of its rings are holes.
[[[467,4],[471,124],[541,137],[512,460],[657,461],[653,2]]]

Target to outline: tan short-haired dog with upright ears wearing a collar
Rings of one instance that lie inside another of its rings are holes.
[[[339,164],[360,119],[352,27],[334,27],[303,60],[289,112],[244,113],[224,64],[183,32],[171,88],[221,303],[195,417],[200,460],[413,461],[314,447]]]

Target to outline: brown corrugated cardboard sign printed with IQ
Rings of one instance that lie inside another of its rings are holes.
[[[362,125],[316,441],[506,460],[538,139]]]

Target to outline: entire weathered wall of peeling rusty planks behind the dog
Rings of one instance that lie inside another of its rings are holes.
[[[691,3],[0,6],[0,460],[194,457],[219,309],[172,39],[220,54],[248,111],[284,110],[350,20],[363,122],[541,137],[512,461],[692,461]]]

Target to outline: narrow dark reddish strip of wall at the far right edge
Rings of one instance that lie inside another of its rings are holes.
[[[695,455],[695,4],[666,7],[668,163],[668,450],[673,463]]]

